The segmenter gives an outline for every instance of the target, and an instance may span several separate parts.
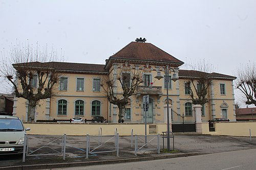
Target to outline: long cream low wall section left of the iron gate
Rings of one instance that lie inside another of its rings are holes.
[[[119,135],[133,134],[144,135],[145,124],[75,124],[75,123],[24,123],[26,128],[31,128],[27,131],[31,135],[98,135],[100,128],[102,135],[114,135],[115,130]],[[157,134],[166,131],[166,124],[147,125],[147,134]]]

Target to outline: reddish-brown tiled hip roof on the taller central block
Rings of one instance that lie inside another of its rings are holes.
[[[131,42],[124,46],[120,51],[111,56],[109,59],[130,59],[146,60],[157,62],[169,62],[182,65],[184,62],[174,56],[164,52],[152,43]]]

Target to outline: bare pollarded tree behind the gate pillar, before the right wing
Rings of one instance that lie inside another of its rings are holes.
[[[210,72],[214,70],[209,62],[200,60],[191,64],[193,70],[188,70],[186,74],[185,89],[189,91],[190,99],[194,105],[204,105],[209,102],[209,88],[212,85]]]

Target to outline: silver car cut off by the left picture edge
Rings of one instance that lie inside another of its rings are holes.
[[[26,131],[16,116],[0,115],[0,155],[22,154]]]

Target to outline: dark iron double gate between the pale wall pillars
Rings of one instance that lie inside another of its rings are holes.
[[[173,132],[196,132],[195,110],[191,115],[181,115],[172,109],[172,130]]]

